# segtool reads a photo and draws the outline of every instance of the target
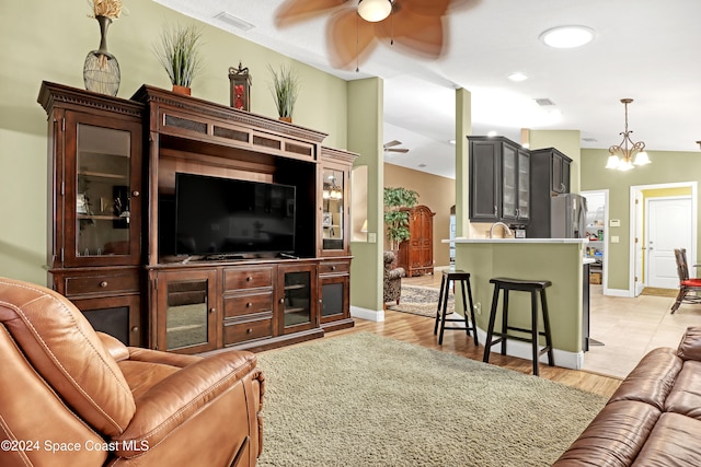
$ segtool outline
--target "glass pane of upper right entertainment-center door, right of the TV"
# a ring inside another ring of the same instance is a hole
[[[344,249],[345,218],[345,172],[333,168],[323,170],[322,191],[322,248]]]

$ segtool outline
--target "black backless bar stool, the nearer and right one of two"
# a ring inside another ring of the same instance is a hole
[[[492,346],[502,342],[502,355],[506,354],[506,339],[515,339],[525,342],[531,342],[532,345],[532,358],[533,358],[533,375],[538,376],[539,359],[543,353],[548,353],[548,364],[554,365],[554,359],[552,353],[552,339],[550,335],[550,320],[548,318],[548,301],[545,300],[545,288],[552,285],[550,281],[529,281],[520,279],[507,279],[507,278],[494,278],[490,280],[490,283],[494,284],[494,296],[492,297],[492,312],[490,313],[490,325],[486,331],[486,343],[484,346],[484,359],[485,363],[490,361],[490,351]],[[502,308],[502,331],[494,331],[494,322],[496,320],[496,310],[499,300],[499,291],[504,291],[504,301]],[[509,291],[530,292],[530,315],[531,315],[531,328],[524,329],[508,325],[508,293]],[[540,305],[543,315],[543,331],[538,330],[538,294],[540,294]],[[530,337],[515,336],[509,334],[509,330],[519,332],[530,332]],[[494,337],[497,337],[494,339]],[[544,336],[545,346],[539,350],[539,336]]]

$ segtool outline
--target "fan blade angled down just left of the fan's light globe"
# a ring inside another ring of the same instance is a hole
[[[333,13],[326,23],[329,58],[334,68],[357,68],[377,43],[375,23],[361,20],[355,8]]]

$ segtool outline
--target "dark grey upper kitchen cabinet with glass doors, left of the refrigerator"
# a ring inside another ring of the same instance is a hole
[[[526,224],[530,218],[530,154],[504,137],[470,141],[470,221]]]

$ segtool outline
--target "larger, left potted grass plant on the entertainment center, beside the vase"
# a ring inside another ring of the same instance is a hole
[[[161,32],[161,40],[153,47],[173,84],[173,92],[189,95],[193,79],[203,70],[202,32],[194,25],[166,25]]]

